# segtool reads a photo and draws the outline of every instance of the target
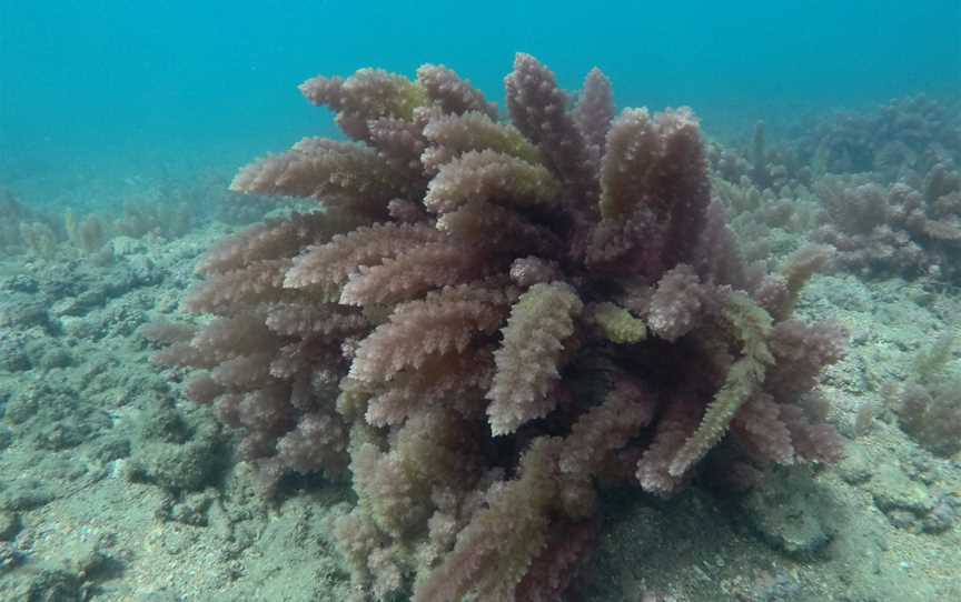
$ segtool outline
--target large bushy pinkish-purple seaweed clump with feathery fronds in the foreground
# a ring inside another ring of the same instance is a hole
[[[688,109],[615,112],[535,58],[509,120],[454,71],[300,90],[350,141],[304,139],[236,191],[318,210],[222,241],[160,360],[265,478],[353,482],[333,525],[358,598],[556,600],[597,488],[831,462],[814,389],[844,332],[791,317],[826,251],[745,265]]]

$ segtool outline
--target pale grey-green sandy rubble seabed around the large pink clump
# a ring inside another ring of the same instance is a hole
[[[230,433],[138,333],[177,318],[194,264],[227,231],[117,238],[101,267],[0,261],[0,600],[349,598],[326,529],[349,491],[304,480],[264,499]],[[888,399],[957,328],[961,294],[822,275],[799,312],[851,331],[823,381],[846,459],[744,495],[606,492],[571,601],[961,600],[961,461],[909,439]]]

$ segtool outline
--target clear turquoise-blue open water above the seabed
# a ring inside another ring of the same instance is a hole
[[[334,133],[296,84],[365,66],[445,63],[503,102],[515,51],[569,89],[600,66],[618,104],[687,104],[724,133],[957,94],[961,0],[0,0],[0,185],[42,202],[232,170]]]

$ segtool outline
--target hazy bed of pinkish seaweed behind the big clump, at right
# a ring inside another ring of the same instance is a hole
[[[747,140],[710,144],[709,158],[751,259],[796,245],[786,230],[834,245],[835,265],[861,274],[957,278],[961,120],[950,101],[919,94],[802,120],[773,146],[757,122]]]

